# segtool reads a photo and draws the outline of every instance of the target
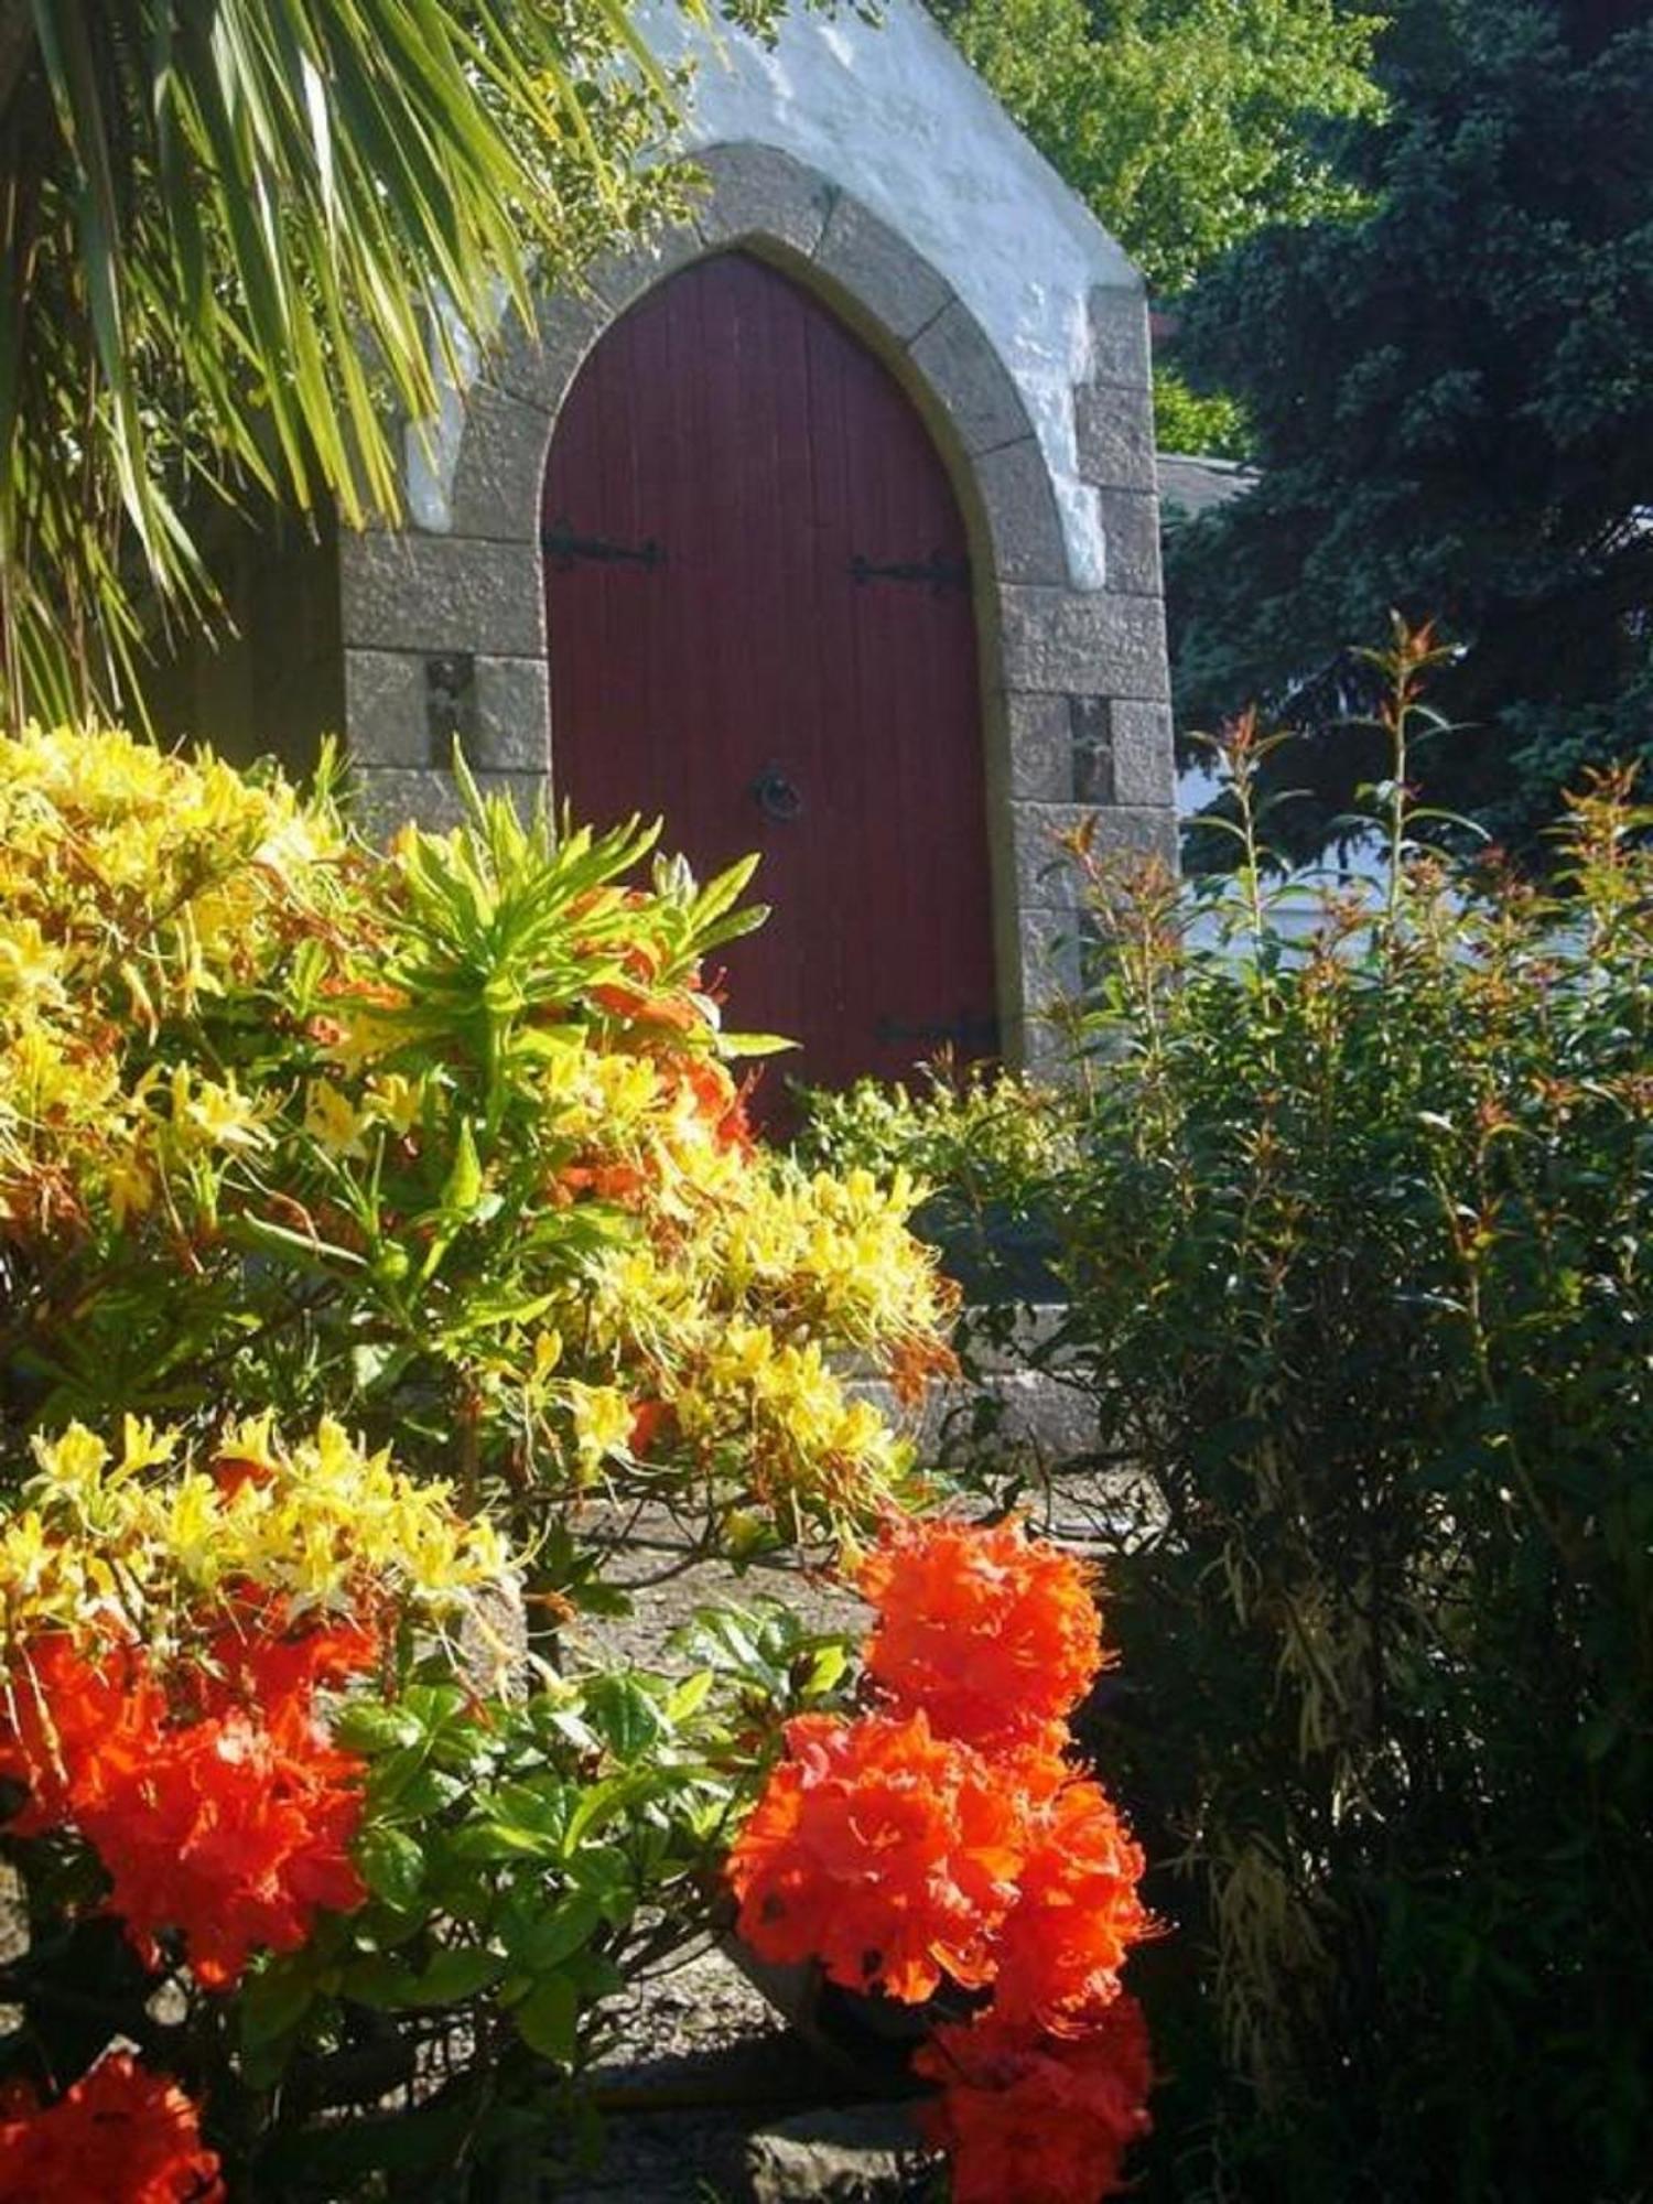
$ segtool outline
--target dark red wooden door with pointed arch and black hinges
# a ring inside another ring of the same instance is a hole
[[[558,798],[663,813],[701,877],[763,851],[730,1025],[815,1082],[992,1054],[965,531],[886,368],[763,262],[696,262],[569,392],[544,542]]]

